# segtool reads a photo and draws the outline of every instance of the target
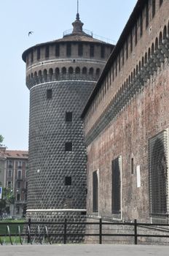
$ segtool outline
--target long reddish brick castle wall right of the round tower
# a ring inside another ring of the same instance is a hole
[[[149,139],[169,124],[169,2],[156,1],[155,13],[152,4],[153,1],[138,1],[82,113],[87,145],[88,214],[150,221]],[[112,186],[113,161],[117,158],[120,192]],[[93,211],[95,170],[98,211]],[[168,181],[168,174],[165,178]],[[116,196],[118,213],[112,209]]]

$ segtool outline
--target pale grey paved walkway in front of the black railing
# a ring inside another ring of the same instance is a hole
[[[169,246],[143,245],[4,245],[0,256],[168,256]]]

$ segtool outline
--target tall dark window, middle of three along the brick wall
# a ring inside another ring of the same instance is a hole
[[[112,170],[112,214],[119,214],[121,211],[121,157],[111,162]]]

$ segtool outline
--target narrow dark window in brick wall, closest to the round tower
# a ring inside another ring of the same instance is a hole
[[[98,173],[93,172],[93,212],[98,212]]]

